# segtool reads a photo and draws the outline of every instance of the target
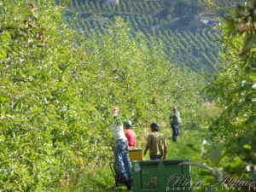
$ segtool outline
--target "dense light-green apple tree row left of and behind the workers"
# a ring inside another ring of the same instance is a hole
[[[137,131],[146,119],[165,123],[174,104],[196,118],[197,75],[119,18],[91,41],[63,10],[52,0],[0,3],[0,190],[49,191],[109,160],[113,105]]]

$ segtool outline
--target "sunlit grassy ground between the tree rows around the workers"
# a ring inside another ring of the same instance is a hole
[[[194,128],[189,127],[180,127],[180,135],[177,137],[177,143],[172,142],[172,130],[166,129],[163,131],[166,135],[167,141],[167,159],[181,159],[181,158],[190,158],[192,162],[201,162],[199,157],[199,152],[195,152],[188,145],[193,145],[195,148],[200,150],[202,139],[207,134],[207,127],[204,126],[195,126]],[[141,136],[140,139],[144,138],[146,141],[146,136]],[[139,146],[144,147],[146,142],[139,143]],[[149,152],[148,152],[149,154]],[[148,154],[144,157],[144,160],[149,160]],[[192,178],[194,181],[201,180],[199,174],[200,168],[192,166]],[[74,185],[73,182],[69,186],[61,187],[55,189],[55,191],[64,191],[64,192],[84,192],[84,191],[126,191],[125,187],[119,187],[116,189],[109,189],[114,185],[114,178],[109,166],[106,167],[95,167],[90,169],[88,172],[84,172],[79,177],[79,182]]]

